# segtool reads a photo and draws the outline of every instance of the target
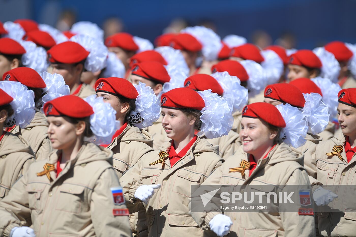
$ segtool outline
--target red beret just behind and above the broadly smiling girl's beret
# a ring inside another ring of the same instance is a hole
[[[305,104],[302,91],[296,86],[287,83],[268,85],[265,89],[265,98],[278,100],[300,108],[303,108]]]

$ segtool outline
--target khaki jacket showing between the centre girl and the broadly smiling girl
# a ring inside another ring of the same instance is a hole
[[[226,136],[209,139],[204,137],[210,144],[219,146],[219,155],[226,160],[240,147],[239,134],[230,130]]]

